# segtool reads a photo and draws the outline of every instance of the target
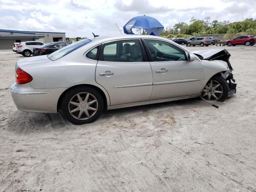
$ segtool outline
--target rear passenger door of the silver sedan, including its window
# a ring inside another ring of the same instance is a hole
[[[95,77],[111,105],[150,100],[152,70],[141,45],[138,39],[102,44]]]

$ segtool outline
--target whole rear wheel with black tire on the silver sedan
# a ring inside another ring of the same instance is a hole
[[[85,101],[86,99],[87,101]],[[89,104],[90,102],[92,103]],[[69,90],[61,101],[64,117],[76,125],[94,122],[102,114],[103,109],[102,95],[98,90],[88,86],[79,86]]]

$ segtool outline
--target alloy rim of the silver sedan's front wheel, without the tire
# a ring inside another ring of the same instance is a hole
[[[217,101],[218,99],[221,98],[222,94],[223,94],[223,88],[220,85],[220,83],[218,83],[215,80],[209,80],[205,85],[200,97],[203,100]]]

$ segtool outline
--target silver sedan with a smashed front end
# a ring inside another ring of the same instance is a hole
[[[85,124],[104,109],[236,92],[225,49],[190,52],[157,36],[95,37],[16,63],[11,94],[19,110],[57,113]]]

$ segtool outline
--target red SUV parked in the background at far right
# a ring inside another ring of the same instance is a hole
[[[239,36],[235,39],[230,39],[225,42],[227,46],[236,46],[236,45],[254,45],[256,43],[256,36],[254,35],[244,35]]]

